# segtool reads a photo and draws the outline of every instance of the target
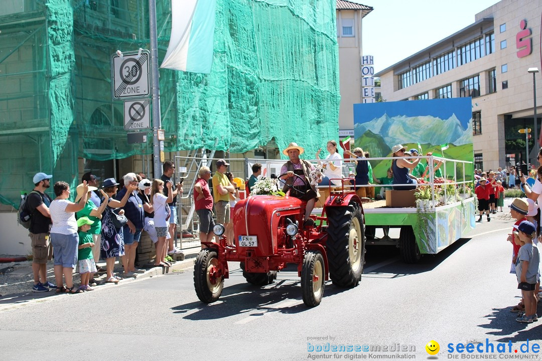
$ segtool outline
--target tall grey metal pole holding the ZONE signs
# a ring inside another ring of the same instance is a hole
[[[160,149],[164,142],[158,140],[158,129],[162,127],[160,119],[160,83],[158,78],[158,35],[156,30],[156,0],[149,0],[149,33],[151,40],[151,94],[152,94],[152,160],[154,179],[162,175]]]

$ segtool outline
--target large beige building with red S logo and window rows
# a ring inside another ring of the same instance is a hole
[[[474,23],[376,74],[386,101],[472,98],[475,167],[535,161],[533,73],[542,117],[542,2],[502,0]],[[531,128],[526,156],[525,134]],[[415,141],[415,140],[414,140]],[[536,163],[536,162],[534,162]]]

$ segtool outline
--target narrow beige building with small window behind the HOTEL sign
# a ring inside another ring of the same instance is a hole
[[[354,129],[354,104],[362,102],[362,24],[373,8],[337,0],[339,44],[339,130]]]

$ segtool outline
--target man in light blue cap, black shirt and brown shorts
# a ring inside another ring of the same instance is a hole
[[[30,214],[30,239],[32,241],[32,271],[34,272],[33,292],[47,292],[56,286],[47,280],[47,258],[49,256],[49,229],[51,228],[51,214],[49,205],[51,198],[46,189],[50,187],[52,175],[36,173],[34,175],[34,189],[27,196],[25,207]]]

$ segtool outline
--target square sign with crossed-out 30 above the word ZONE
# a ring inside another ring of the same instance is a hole
[[[149,50],[111,57],[113,99],[149,96]]]

